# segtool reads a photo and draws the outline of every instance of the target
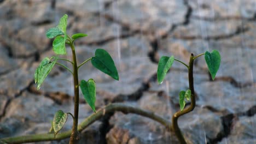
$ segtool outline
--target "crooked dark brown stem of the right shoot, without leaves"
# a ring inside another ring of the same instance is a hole
[[[187,143],[182,135],[181,129],[178,126],[178,118],[185,113],[189,113],[194,110],[195,108],[195,91],[194,91],[194,78],[193,78],[193,64],[194,64],[194,55],[191,53],[190,60],[189,60],[189,67],[188,67],[188,77],[189,77],[189,89],[191,90],[191,104],[189,107],[185,108],[183,111],[178,111],[174,113],[172,116],[172,129],[174,133],[178,137],[178,140],[181,144]]]

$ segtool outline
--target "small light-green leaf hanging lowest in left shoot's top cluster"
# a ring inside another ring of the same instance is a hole
[[[65,46],[65,38],[60,36],[57,36],[53,41],[53,51],[57,55],[66,55],[66,46]]]

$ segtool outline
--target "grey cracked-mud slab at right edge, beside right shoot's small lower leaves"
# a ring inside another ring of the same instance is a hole
[[[199,100],[198,105],[211,105],[217,110],[228,110],[230,113],[246,111],[255,105],[255,98],[251,97],[253,87],[238,89],[229,82],[202,82],[195,85]]]

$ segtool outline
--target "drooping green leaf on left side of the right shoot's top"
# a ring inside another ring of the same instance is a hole
[[[167,71],[172,67],[174,57],[162,56],[158,63],[158,83],[162,83],[165,79]]]

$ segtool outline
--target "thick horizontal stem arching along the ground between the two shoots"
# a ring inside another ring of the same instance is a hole
[[[134,113],[140,116],[148,117],[150,119],[153,119],[156,122],[159,122],[160,124],[164,125],[165,128],[172,131],[171,123],[167,119],[162,118],[153,112],[149,112],[146,110],[142,110],[138,107],[125,105],[121,103],[109,104],[103,109],[98,110],[96,113],[93,113],[78,125],[78,131],[82,131],[85,128],[89,127],[90,124],[94,123],[95,121],[98,121],[104,115],[108,113],[116,112],[116,111],[123,112],[124,114]],[[68,130],[68,131],[64,131],[63,133],[57,134],[56,137],[54,137],[54,134],[35,134],[35,135],[25,135],[25,136],[16,136],[16,137],[6,137],[3,139],[0,139],[0,141],[6,142],[6,143],[27,143],[27,142],[39,142],[39,141],[63,140],[68,138],[71,135],[71,133],[72,133],[72,130]]]

